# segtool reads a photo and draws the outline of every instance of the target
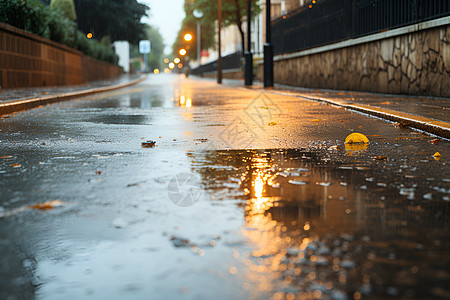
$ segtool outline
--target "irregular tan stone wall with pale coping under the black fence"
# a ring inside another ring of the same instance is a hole
[[[448,21],[430,24],[437,25],[412,25],[359,42],[277,56],[275,83],[450,97],[450,25]],[[262,80],[262,65],[258,76]]]

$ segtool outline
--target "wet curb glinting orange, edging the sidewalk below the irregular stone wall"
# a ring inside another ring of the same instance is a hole
[[[405,125],[416,128],[446,139],[450,139],[450,123],[444,121],[433,120],[426,117],[420,117],[409,113],[399,112],[395,110],[374,107],[363,104],[349,104],[340,101],[324,98],[324,97],[311,97],[301,93],[286,93],[281,91],[269,91],[270,93],[279,94],[283,96],[300,97],[306,100],[321,101],[332,105],[344,107],[349,110],[358,111],[364,114],[372,115],[382,119],[386,119],[394,122],[401,122]]]

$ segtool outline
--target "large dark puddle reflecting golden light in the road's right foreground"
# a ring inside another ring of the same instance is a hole
[[[251,298],[449,298],[445,178],[297,150],[190,156],[214,201],[242,201],[238,275]],[[408,199],[410,186],[433,197]]]

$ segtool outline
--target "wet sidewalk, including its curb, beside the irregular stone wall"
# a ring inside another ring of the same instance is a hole
[[[242,80],[225,79],[224,84],[242,86],[244,83]],[[450,139],[449,98],[307,89],[277,84],[264,89],[259,81],[247,88],[326,102]]]

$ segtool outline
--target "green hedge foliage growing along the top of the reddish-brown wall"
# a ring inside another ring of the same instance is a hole
[[[28,0],[27,4],[23,0],[0,0],[0,22],[73,47],[97,59],[111,63],[118,61],[109,43],[88,40],[61,10],[47,7],[38,0]]]

